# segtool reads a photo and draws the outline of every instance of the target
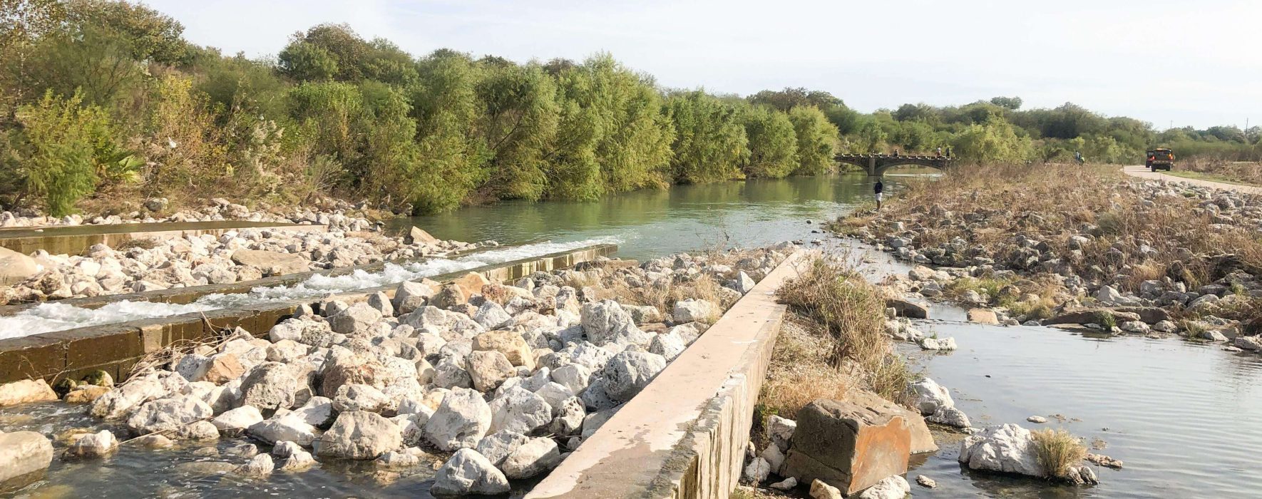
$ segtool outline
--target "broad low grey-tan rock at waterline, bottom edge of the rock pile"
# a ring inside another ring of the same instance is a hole
[[[403,446],[403,433],[390,419],[366,411],[343,412],[324,432],[317,456],[356,460],[377,459]]]

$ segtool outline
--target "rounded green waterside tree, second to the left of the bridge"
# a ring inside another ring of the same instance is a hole
[[[751,106],[742,114],[750,155],[747,177],[781,178],[798,168],[798,134],[784,111]]]

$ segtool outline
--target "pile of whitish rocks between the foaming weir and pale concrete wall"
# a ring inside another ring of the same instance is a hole
[[[203,491],[197,480],[213,475],[241,480],[239,490],[268,484],[294,495],[363,479],[410,484],[391,490],[422,496],[529,488],[782,258],[681,254],[534,273],[512,286],[477,274],[443,287],[405,283],[394,299],[323,302],[266,332],[162,351],[121,387],[96,376],[64,395],[87,407],[52,403],[100,419],[34,426],[59,435],[54,447],[67,454],[37,488],[90,486],[78,476],[96,474],[76,470],[111,467],[97,457],[116,452],[169,460],[146,446],[191,457],[174,465],[175,480]],[[143,471],[107,488],[151,495],[168,481]]]

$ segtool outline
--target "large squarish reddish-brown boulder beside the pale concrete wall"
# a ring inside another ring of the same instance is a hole
[[[892,402],[820,399],[798,411],[782,475],[823,480],[851,495],[906,472],[910,454],[907,421]]]

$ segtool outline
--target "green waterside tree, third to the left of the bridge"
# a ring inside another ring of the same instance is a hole
[[[675,129],[671,171],[675,182],[704,183],[741,177],[750,157],[736,109],[702,92],[674,95],[666,110]]]

